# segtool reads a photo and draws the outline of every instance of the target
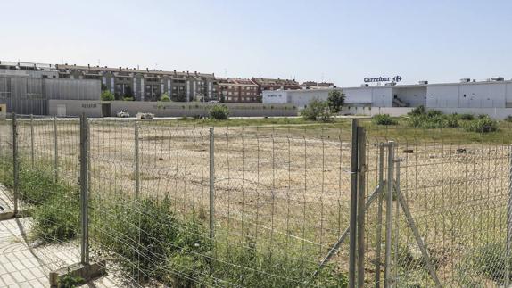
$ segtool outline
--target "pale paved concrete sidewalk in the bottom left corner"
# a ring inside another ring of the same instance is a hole
[[[0,188],[2,206],[10,206]],[[29,242],[31,218],[12,218],[0,221],[0,287],[49,287],[50,271],[79,262],[77,241],[32,248]],[[85,287],[122,287],[114,276],[83,285]]]

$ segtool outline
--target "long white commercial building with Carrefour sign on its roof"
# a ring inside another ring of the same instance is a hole
[[[334,88],[336,89],[336,88]],[[446,113],[489,114],[496,119],[512,115],[512,80],[503,78],[475,81],[461,79],[458,83],[417,85],[384,85],[338,88],[345,95],[343,112],[396,116],[424,105],[427,109]],[[318,90],[274,90],[263,92],[263,103],[291,103],[303,108],[312,99],[326,100],[333,88]]]

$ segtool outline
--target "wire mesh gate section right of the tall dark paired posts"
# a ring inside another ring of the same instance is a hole
[[[364,285],[508,287],[510,153],[508,145],[368,140]]]

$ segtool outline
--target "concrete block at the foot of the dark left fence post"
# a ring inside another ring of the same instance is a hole
[[[76,263],[69,267],[63,267],[50,272],[50,286],[59,287],[59,283],[65,276],[79,278],[80,281],[77,284],[85,284],[92,279],[104,276],[106,274],[105,265],[106,261],[101,260],[89,264]]]

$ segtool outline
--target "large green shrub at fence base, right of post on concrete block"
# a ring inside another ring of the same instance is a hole
[[[154,279],[178,287],[189,287],[189,279],[202,276],[212,249],[208,233],[175,218],[169,199],[96,201],[109,213],[93,217],[91,233],[126,274],[136,277],[140,269],[142,282]]]

